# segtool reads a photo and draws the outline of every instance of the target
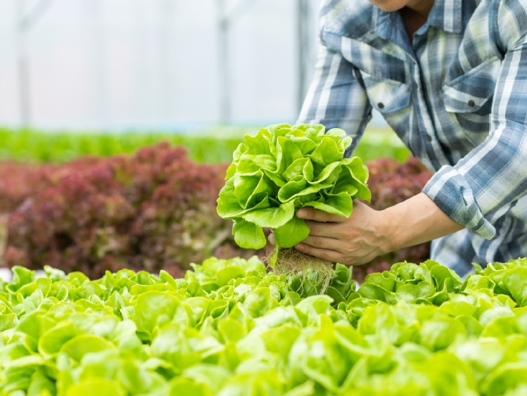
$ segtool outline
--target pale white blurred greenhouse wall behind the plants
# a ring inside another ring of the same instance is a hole
[[[318,8],[319,0],[1,0],[0,125],[293,122],[316,58]]]

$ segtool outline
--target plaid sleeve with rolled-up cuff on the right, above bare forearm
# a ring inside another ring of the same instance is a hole
[[[455,166],[441,167],[423,190],[451,219],[488,239],[527,193],[527,39],[516,32],[507,33],[489,136]]]

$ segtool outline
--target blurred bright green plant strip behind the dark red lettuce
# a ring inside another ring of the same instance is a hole
[[[39,132],[32,129],[0,128],[0,160],[30,162],[65,162],[83,155],[116,155],[134,153],[160,141],[184,146],[189,158],[215,164],[230,162],[232,152],[245,134],[256,134],[257,128],[211,127],[192,134],[128,132]],[[388,129],[369,129],[355,151],[368,161],[394,158],[404,161],[409,151],[395,133]]]

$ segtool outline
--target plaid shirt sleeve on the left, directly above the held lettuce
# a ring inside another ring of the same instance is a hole
[[[353,138],[349,156],[372,118],[366,92],[355,79],[354,66],[341,53],[321,44],[315,74],[297,123],[323,124],[326,129],[341,128]]]

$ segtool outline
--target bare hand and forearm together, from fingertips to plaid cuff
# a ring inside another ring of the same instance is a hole
[[[296,215],[310,227],[310,235],[295,246],[298,250],[347,265],[365,264],[384,253],[464,228],[424,193],[381,211],[356,200],[347,218],[313,207],[303,207]]]

